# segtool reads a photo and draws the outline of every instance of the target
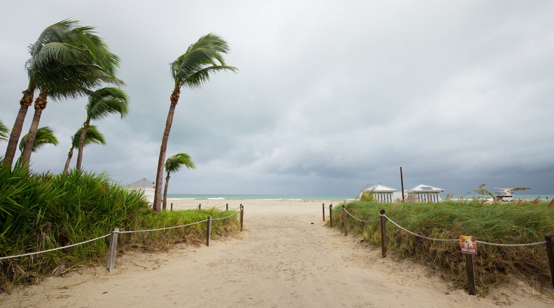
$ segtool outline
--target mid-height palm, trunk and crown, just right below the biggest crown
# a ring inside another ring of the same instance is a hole
[[[119,113],[124,118],[128,113],[128,96],[122,89],[105,87],[97,89],[89,96],[89,103],[86,104],[86,120],[83,123],[82,133],[79,141],[79,153],[77,155],[77,166],[81,168],[82,150],[86,131],[89,129],[91,120],[100,120],[106,118],[112,113]]]

